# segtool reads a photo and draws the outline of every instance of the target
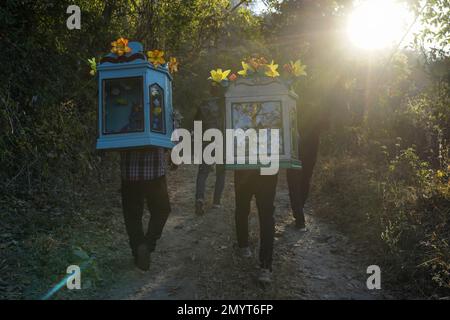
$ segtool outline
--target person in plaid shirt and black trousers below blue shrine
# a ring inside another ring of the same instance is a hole
[[[150,255],[170,213],[166,183],[166,152],[163,148],[147,148],[121,152],[122,207],[125,228],[135,265],[147,271]],[[150,212],[147,231],[142,218],[144,204]]]

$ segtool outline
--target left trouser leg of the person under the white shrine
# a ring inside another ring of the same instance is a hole
[[[235,222],[239,248],[248,247],[248,215],[253,196],[250,178],[245,171],[234,172]]]

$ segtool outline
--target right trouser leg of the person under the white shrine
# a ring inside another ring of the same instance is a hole
[[[256,205],[259,215],[261,268],[272,270],[273,241],[275,236],[274,200],[278,175],[259,176]]]

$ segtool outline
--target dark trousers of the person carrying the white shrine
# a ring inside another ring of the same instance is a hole
[[[236,233],[240,248],[248,246],[248,216],[253,196],[258,208],[261,267],[272,269],[273,241],[275,235],[275,193],[278,175],[262,176],[259,170],[236,170],[234,190],[236,201]]]

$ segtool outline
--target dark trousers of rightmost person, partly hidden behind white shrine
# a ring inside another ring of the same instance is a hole
[[[300,160],[303,168],[301,170],[286,170],[289,188],[289,199],[294,218],[305,223],[303,208],[308,199],[311,187],[311,178],[319,151],[319,134],[309,134],[299,144]]]

